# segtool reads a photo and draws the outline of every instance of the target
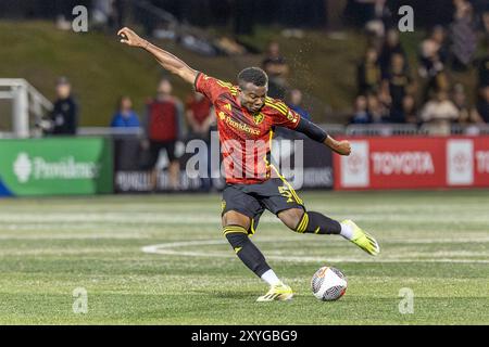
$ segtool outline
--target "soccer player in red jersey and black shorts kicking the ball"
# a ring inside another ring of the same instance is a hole
[[[379,253],[375,239],[353,221],[338,222],[306,210],[293,188],[268,164],[275,126],[300,131],[340,155],[350,155],[351,147],[348,141],[337,141],[301,118],[284,102],[268,98],[265,72],[258,67],[244,68],[238,75],[238,86],[233,86],[195,70],[129,28],[121,29],[118,35],[122,43],[151,53],[163,68],[193,85],[196,91],[213,103],[227,183],[222,203],[223,233],[239,259],[269,285],[269,291],[258,301],[288,300],[293,296],[290,286],[280,281],[249,237],[265,208],[298,233],[339,234],[371,255]]]

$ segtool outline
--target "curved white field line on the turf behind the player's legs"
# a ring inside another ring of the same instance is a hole
[[[297,239],[281,239],[277,241],[276,239],[261,239],[261,242],[285,242],[285,241],[297,241]],[[202,241],[188,241],[188,242],[170,242],[158,245],[145,246],[141,248],[143,253],[148,254],[160,254],[160,255],[175,255],[175,256],[189,256],[189,257],[205,257],[205,258],[233,258],[231,252],[229,253],[218,253],[218,252],[188,252],[177,248],[189,247],[189,246],[204,246],[204,245],[225,245],[225,241],[221,240],[202,240]],[[467,252],[467,255],[469,253]],[[421,254],[416,255],[432,255]],[[447,254],[449,255],[449,253]],[[294,261],[294,262],[317,262],[317,261],[333,261],[333,262],[476,262],[476,264],[489,264],[489,259],[460,259],[460,258],[410,258],[410,257],[397,257],[397,258],[372,258],[372,257],[311,257],[311,256],[279,256],[279,255],[268,255],[267,258],[284,260],[284,261]]]

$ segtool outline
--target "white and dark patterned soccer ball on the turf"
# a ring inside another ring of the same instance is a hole
[[[312,278],[311,288],[319,300],[337,300],[347,292],[347,278],[338,269],[322,267]]]

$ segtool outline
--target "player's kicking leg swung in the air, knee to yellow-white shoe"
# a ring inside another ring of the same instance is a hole
[[[289,208],[278,213],[278,218],[290,229],[299,233],[339,234],[356,246],[376,256],[380,253],[377,241],[353,221],[338,222],[323,214],[305,211],[302,208]]]

